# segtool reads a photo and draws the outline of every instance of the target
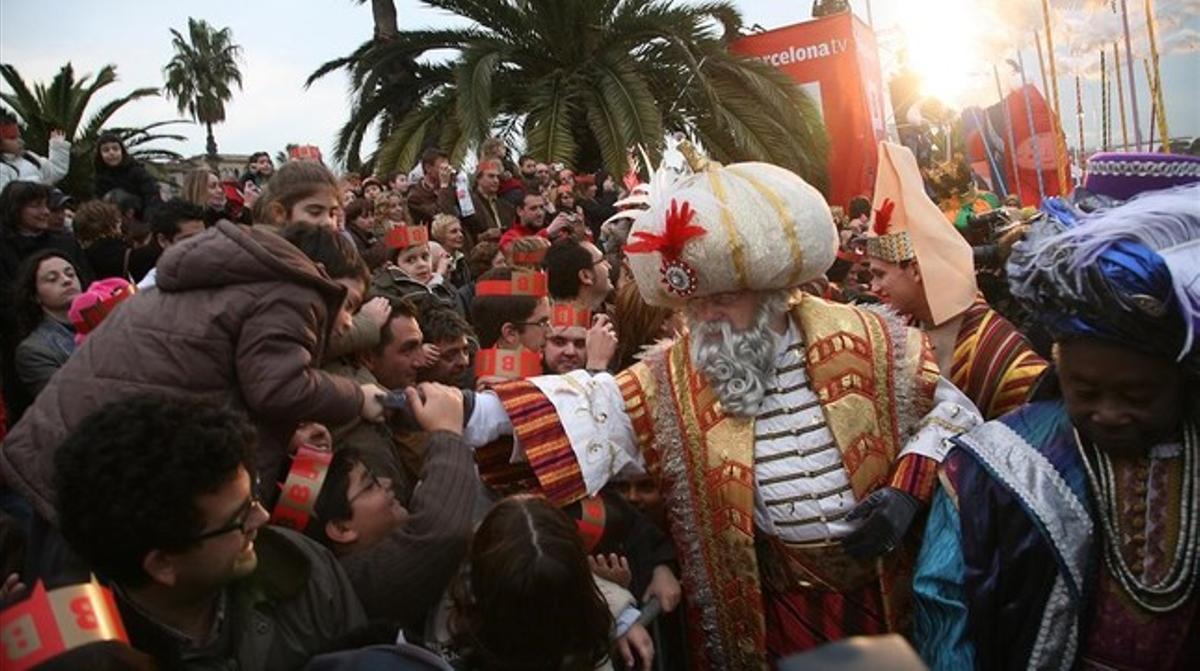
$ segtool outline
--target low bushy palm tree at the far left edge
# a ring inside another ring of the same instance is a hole
[[[143,86],[120,96],[102,106],[90,116],[86,115],[92,97],[106,86],[116,82],[116,66],[106,65],[92,78],[84,74],[76,78],[74,67],[64,65],[49,85],[28,84],[10,64],[0,65],[0,77],[12,92],[0,94],[0,101],[20,119],[24,131],[22,137],[26,146],[40,154],[46,154],[50,131],[62,130],[71,140],[71,170],[59,182],[59,188],[77,197],[89,196],[92,185],[92,155],[96,151],[96,139],[101,131],[118,110],[143,97],[158,95],[158,89]],[[85,120],[86,116],[86,120]],[[174,133],[161,133],[160,128],[175,121],[158,121],[148,126],[133,128],[108,128],[116,132],[137,158],[168,158],[178,156],[174,151],[155,149],[150,143],[158,140],[182,140]]]

